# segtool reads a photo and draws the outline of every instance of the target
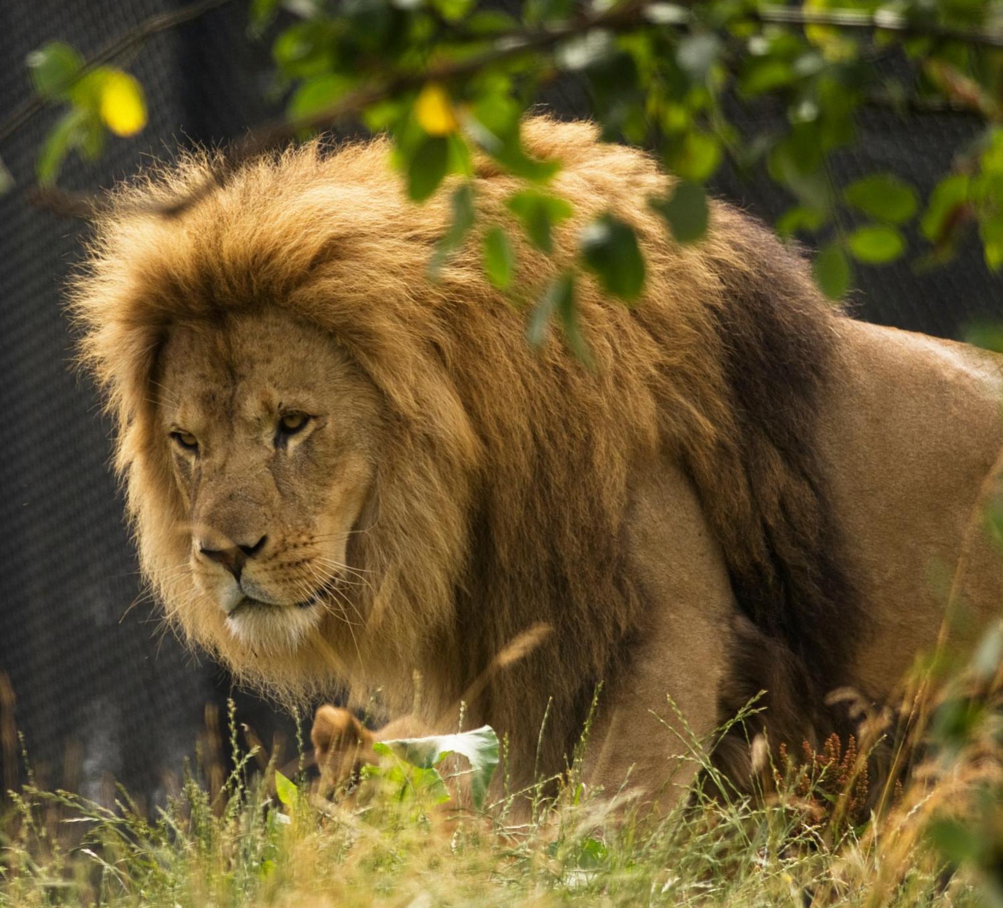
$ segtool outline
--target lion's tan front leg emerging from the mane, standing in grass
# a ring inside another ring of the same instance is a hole
[[[661,812],[685,797],[720,722],[730,675],[734,595],[692,485],[663,462],[638,477],[629,531],[646,601],[623,673],[609,678],[584,779]]]

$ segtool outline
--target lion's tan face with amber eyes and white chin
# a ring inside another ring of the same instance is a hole
[[[196,607],[255,649],[288,649],[364,582],[350,565],[380,401],[319,329],[278,313],[176,326],[154,388],[187,506]]]

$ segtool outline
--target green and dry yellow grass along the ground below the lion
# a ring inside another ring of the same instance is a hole
[[[661,818],[589,791],[578,762],[525,823],[437,803],[437,777],[392,756],[332,803],[255,769],[231,714],[229,778],[187,769],[153,816],[124,792],[9,793],[0,906],[1003,906],[1001,646],[995,627],[906,689],[923,757],[904,784],[866,775],[873,735],[773,759],[754,742],[755,797],[703,794],[728,791],[704,762],[710,784]]]

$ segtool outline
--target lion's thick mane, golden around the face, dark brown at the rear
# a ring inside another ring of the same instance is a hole
[[[262,157],[174,217],[139,208],[202,184],[212,155],[119,191],[97,220],[71,310],[117,426],[146,576],[169,618],[240,677],[316,693],[322,652],[295,664],[257,658],[210,636],[186,607],[177,568],[190,540],[154,419],[173,323],[281,307],[330,333],[380,390],[392,424],[374,491],[379,519],[352,551],[375,578],[367,607],[378,619],[364,645],[391,702],[406,709],[414,692],[409,671],[387,666],[420,668],[425,698],[444,701],[545,622],[546,642],[518,675],[495,672],[476,706],[532,755],[553,698],[543,759],[555,765],[596,683],[643,632],[643,591],[623,545],[632,474],[668,454],[697,489],[746,616],[722,708],[760,685],[781,712],[784,697],[819,703],[845,683],[861,626],[814,453],[832,320],[843,316],[797,255],[725,204],[713,203],[703,242],[673,242],[647,207],[671,178],[646,154],[600,142],[587,123],[537,118],[524,132],[532,153],[561,159],[553,191],[575,207],[557,231],[556,262],[510,230],[524,302],[572,264],[578,232],[604,210],[632,223],[643,245],[639,305],[577,282],[591,369],[557,337],[530,348],[525,314],[483,278],[475,240],[427,280],[448,193],[409,203],[384,139]],[[518,187],[480,161],[479,222],[510,223],[504,200]]]

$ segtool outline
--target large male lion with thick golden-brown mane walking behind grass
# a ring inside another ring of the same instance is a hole
[[[517,302],[603,211],[644,248],[633,308],[578,280],[589,368],[558,337],[531,349],[475,240],[428,279],[447,193],[409,203],[383,139],[263,157],[175,217],[134,202],[208,158],[123,189],[73,287],[82,356],[143,571],[238,677],[378,688],[408,718],[377,737],[451,730],[463,701],[509,736],[514,786],[564,767],[603,682],[589,778],[634,765],[666,805],[692,773],[664,787],[686,750],[667,695],[706,739],[765,689],[771,739],[799,743],[839,726],[828,692],[881,701],[935,642],[938,569],[970,628],[998,607],[978,513],[1001,361],[853,321],[726,204],[676,244],[647,205],[671,177],[593,125],[525,141],[563,162],[575,216],[553,260],[519,247]],[[478,223],[518,187],[480,160]],[[330,708],[315,735],[373,738]]]

